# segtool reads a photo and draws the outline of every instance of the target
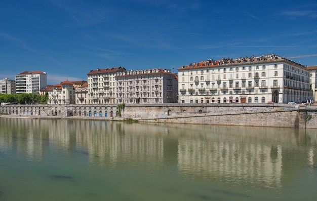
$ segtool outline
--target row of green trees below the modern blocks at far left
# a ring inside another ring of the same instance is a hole
[[[45,95],[39,94],[0,94],[1,103],[20,103],[20,104],[29,104],[29,103],[43,103],[47,104],[49,98],[48,93]]]

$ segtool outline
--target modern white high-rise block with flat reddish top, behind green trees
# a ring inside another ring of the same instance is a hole
[[[16,93],[38,94],[47,86],[46,72],[25,71],[15,75]]]

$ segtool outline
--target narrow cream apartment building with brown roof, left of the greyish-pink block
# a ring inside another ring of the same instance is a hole
[[[115,75],[124,67],[91,70],[88,75],[88,104],[115,103]]]

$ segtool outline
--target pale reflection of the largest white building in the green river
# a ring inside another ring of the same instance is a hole
[[[230,183],[257,183],[279,188],[282,179],[282,147],[244,143],[240,140],[179,141],[179,171]]]

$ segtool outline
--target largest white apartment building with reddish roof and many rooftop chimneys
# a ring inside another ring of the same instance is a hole
[[[287,103],[311,99],[305,66],[275,54],[222,58],[178,69],[181,103]]]

